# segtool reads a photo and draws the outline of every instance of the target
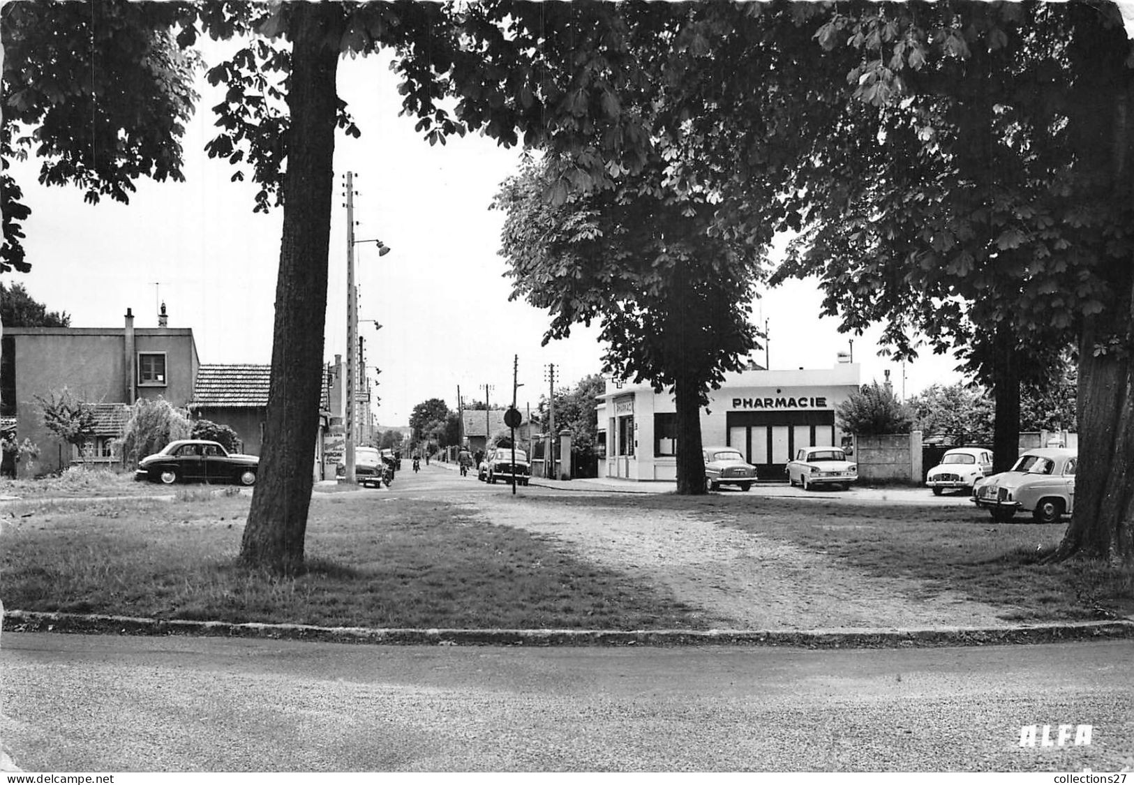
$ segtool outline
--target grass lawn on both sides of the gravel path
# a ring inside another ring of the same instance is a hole
[[[133,481],[130,481],[133,482]],[[159,499],[34,498],[0,512],[9,609],[369,627],[703,628],[701,609],[596,567],[555,540],[422,503],[320,487],[307,571],[236,565],[249,497],[180,487]],[[74,487],[82,487],[75,482]],[[104,493],[120,496],[118,493]],[[74,492],[71,497],[96,493]],[[532,504],[680,509],[826,554],[870,575],[920,581],[1021,622],[1134,615],[1129,568],[1042,564],[1066,524],[997,524],[967,506],[835,504],[742,493],[544,497]]]

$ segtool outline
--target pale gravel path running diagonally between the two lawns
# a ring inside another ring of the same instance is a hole
[[[1005,609],[913,579],[877,577],[727,518],[477,498],[480,515],[562,541],[582,557],[668,590],[710,624],[746,630],[1002,626]]]

